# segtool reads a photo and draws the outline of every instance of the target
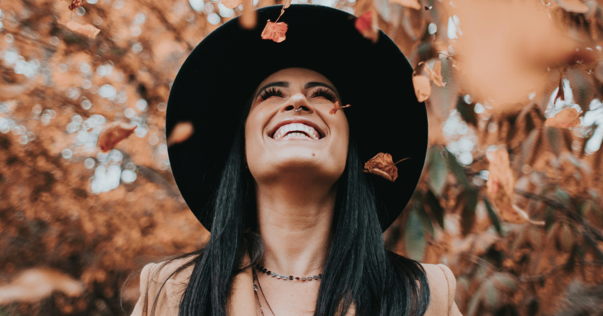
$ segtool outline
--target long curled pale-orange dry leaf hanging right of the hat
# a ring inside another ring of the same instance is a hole
[[[491,202],[498,209],[500,218],[504,221],[522,224],[531,222],[536,225],[544,225],[545,222],[532,221],[528,214],[513,204],[515,179],[511,173],[509,164],[509,153],[506,149],[488,150],[486,153],[490,167],[488,168],[488,181],[486,192]]]

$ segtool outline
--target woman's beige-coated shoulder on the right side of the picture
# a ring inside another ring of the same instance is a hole
[[[446,265],[421,263],[429,284],[429,307],[425,316],[457,316],[461,315],[454,301],[456,279]]]

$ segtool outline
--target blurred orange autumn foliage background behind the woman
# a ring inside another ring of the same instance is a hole
[[[602,3],[292,3],[373,11],[428,97],[428,160],[387,246],[448,265],[464,315],[601,315]],[[171,176],[166,101],[243,6],[81,4],[0,0],[0,315],[129,314],[145,263],[208,236]],[[133,134],[102,152],[116,122]]]

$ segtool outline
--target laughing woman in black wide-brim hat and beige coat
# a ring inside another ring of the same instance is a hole
[[[277,43],[233,19],[180,69],[166,130],[195,133],[169,158],[211,237],[145,266],[132,315],[460,315],[450,269],[384,248],[425,161],[408,61],[344,11],[292,5],[280,21]]]

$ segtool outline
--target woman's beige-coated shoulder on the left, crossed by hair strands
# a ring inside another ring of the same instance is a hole
[[[148,263],[140,272],[140,298],[132,316],[178,315],[180,298],[191,278],[194,257]]]

